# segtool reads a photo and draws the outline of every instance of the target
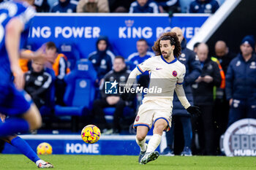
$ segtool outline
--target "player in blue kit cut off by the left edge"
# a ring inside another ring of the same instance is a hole
[[[23,72],[18,64],[20,47],[26,42],[35,15],[28,3],[34,4],[34,0],[0,4],[0,112],[9,116],[5,121],[0,121],[0,138],[17,147],[39,168],[50,168],[53,167],[50,163],[40,160],[29,144],[15,136],[19,132],[37,129],[42,124],[39,110],[21,90]],[[14,83],[12,74],[15,76]],[[1,120],[4,120],[2,115]]]

